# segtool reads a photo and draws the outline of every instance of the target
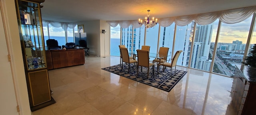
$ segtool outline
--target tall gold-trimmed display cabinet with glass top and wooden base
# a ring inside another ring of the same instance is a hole
[[[44,0],[16,0],[24,68],[31,111],[55,103],[46,65],[40,4]]]

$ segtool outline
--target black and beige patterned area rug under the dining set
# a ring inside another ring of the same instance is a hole
[[[149,69],[149,75],[147,78],[147,72],[148,68],[143,67],[142,72],[140,71],[141,68],[139,67],[139,73],[137,76],[137,69],[136,65],[133,66],[133,64],[130,64],[130,71],[128,71],[128,65],[123,66],[122,65],[114,65],[110,67],[102,68],[103,70],[109,71],[111,73],[115,73],[117,75],[121,75],[123,77],[127,77],[129,79],[133,79],[135,81],[150,85],[152,87],[156,87],[158,89],[162,89],[164,91],[170,92],[172,88],[182,79],[182,77],[187,73],[187,71],[177,70],[174,71],[174,69],[171,69],[169,67],[166,67],[164,72],[162,72],[162,66],[160,68],[160,72],[157,74],[156,71],[156,65],[154,67],[154,74],[152,71],[152,67]]]

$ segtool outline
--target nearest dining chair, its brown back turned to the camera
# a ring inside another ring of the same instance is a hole
[[[149,67],[153,68],[153,74],[154,74],[154,63],[149,63],[149,55],[147,50],[136,50],[137,51],[137,57],[138,57],[138,63],[137,63],[137,76],[139,73],[139,66],[141,66],[141,72],[142,67],[148,67],[148,74],[149,74]],[[148,75],[147,75],[148,78]]]

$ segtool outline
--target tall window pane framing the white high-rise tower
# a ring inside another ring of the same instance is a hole
[[[208,25],[196,24],[193,49],[190,53],[192,55],[191,68],[210,71],[214,50],[214,45],[211,42],[216,40],[218,22],[219,20]]]

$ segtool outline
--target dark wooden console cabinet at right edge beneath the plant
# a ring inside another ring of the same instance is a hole
[[[230,103],[237,115],[255,115],[256,104],[256,69],[245,67],[241,71],[235,69],[231,89],[232,102]]]

